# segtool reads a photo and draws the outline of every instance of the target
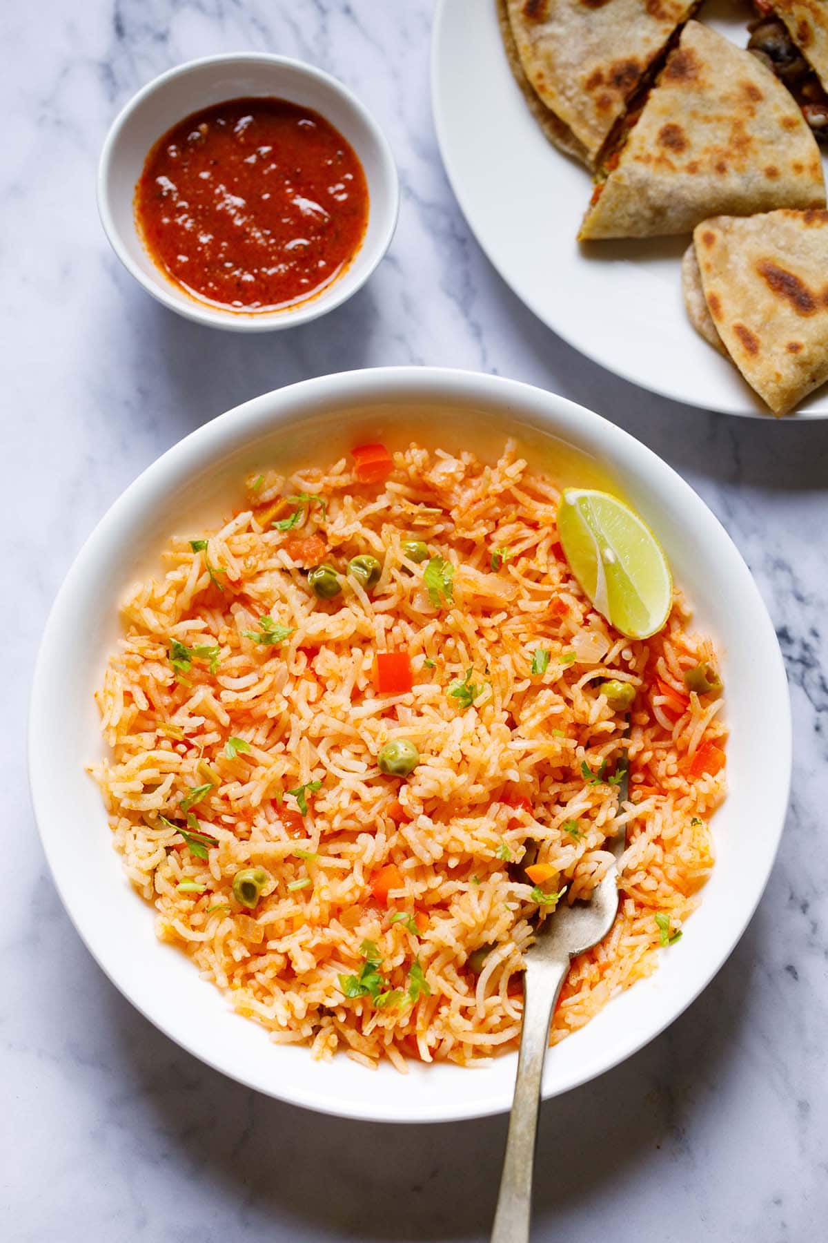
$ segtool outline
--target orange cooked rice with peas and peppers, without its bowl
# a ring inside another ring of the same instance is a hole
[[[679,593],[657,636],[616,633],[564,559],[557,501],[511,441],[494,466],[412,445],[369,485],[350,457],[266,471],[130,589],[97,696],[112,753],[92,768],[114,844],[158,936],[274,1042],[400,1070],[514,1049],[533,922],[588,897],[619,824],[618,917],[574,961],[552,1040],[652,972],[696,905],[725,728],[720,695],[688,695],[683,674],[715,666],[713,646]],[[382,566],[369,590],[346,573],[364,553]],[[308,582],[322,559],[329,600]],[[411,690],[376,689],[384,653],[410,656]],[[621,810],[606,679],[637,692]],[[420,763],[385,776],[400,738]],[[247,868],[267,873],[251,909],[232,891]]]

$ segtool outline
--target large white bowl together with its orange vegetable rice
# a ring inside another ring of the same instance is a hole
[[[659,635],[580,592],[565,486],[657,534]],[[684,692],[699,663],[724,691]],[[608,679],[636,690],[619,917],[544,1096],[662,1032],[758,902],[791,777],[773,626],[695,492],[571,401],[431,368],[268,393],[144,471],[61,588],[30,717],[55,883],[123,994],[241,1083],[377,1121],[505,1110],[534,915],[606,868]]]

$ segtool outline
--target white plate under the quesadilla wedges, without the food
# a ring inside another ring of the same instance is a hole
[[[732,0],[700,16],[745,46]],[[727,414],[772,418],[690,326],[680,259],[689,237],[575,240],[590,174],[550,145],[506,63],[494,0],[439,0],[432,102],[449,181],[480,246],[528,307],[581,353],[642,388]],[[828,418],[828,389],[793,419]]]

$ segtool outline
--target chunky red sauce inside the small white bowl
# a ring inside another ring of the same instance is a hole
[[[185,117],[135,186],[153,260],[191,297],[232,311],[319,293],[359,250],[367,213],[353,147],[287,99],[228,99]]]

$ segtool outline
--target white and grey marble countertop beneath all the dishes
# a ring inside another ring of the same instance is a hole
[[[529,380],[650,445],[739,544],[791,679],[793,799],[762,904],[729,963],[664,1035],[544,1108],[534,1237],[824,1237],[828,421],[672,405],[544,328],[489,266],[446,181],[430,109],[430,26],[428,0],[45,0],[0,15],[0,528],[12,617],[0,1237],[9,1243],[488,1238],[503,1117],[350,1124],[257,1096],[182,1053],[123,1001],[72,930],[25,778],[29,684],[48,607],[123,487],[247,398],[391,363]],[[110,252],[94,204],[98,150],[125,99],[176,62],[240,48],[303,57],[343,78],[386,128],[402,181],[398,230],[370,283],[317,323],[253,338],[197,327],[150,300]]]

